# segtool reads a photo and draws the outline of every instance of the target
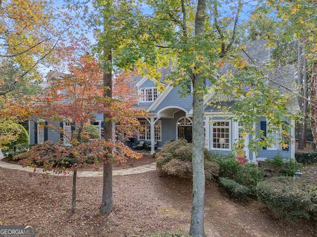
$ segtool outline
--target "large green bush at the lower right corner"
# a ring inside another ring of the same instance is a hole
[[[273,177],[258,183],[256,192],[280,224],[295,224],[300,217],[316,217],[317,186],[314,181]]]

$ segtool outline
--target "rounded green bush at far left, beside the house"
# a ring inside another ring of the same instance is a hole
[[[7,144],[6,149],[2,149],[3,155],[10,159],[17,154],[28,150],[29,134],[21,124],[17,123],[13,124],[13,126],[8,129],[14,129],[14,132],[18,133],[17,139]]]

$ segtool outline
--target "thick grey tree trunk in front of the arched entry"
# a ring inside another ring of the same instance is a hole
[[[198,0],[195,19],[195,34],[205,32],[206,0]],[[193,75],[193,199],[190,223],[190,235],[204,237],[204,198],[205,198],[205,170],[204,170],[204,93],[200,90],[203,81],[200,74]]]

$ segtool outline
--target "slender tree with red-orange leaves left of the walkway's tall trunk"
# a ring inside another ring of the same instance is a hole
[[[128,84],[122,83],[129,80],[129,75],[122,74],[114,77],[114,95],[117,95],[117,98],[104,97],[103,91],[106,88],[101,84],[103,71],[97,59],[87,53],[88,47],[87,40],[73,42],[71,46],[65,47],[61,56],[68,62],[69,73],[64,78],[57,79],[41,96],[36,98],[33,107],[29,108],[38,121],[71,122],[76,132],[69,133],[59,126],[52,125],[53,123],[42,122],[42,126],[63,134],[71,145],[67,147],[62,143],[46,142],[38,144],[28,153],[19,156],[19,158],[24,157],[21,161],[24,165],[35,166],[36,160],[44,163],[48,170],[55,172],[65,170],[57,165],[65,163],[65,158],[73,160],[70,166],[73,170],[72,212],[76,209],[76,175],[79,167],[99,160],[110,162],[111,160],[104,160],[107,154],[112,154],[112,160],[122,161],[126,157],[140,158],[140,155],[132,152],[123,144],[123,141],[114,143],[113,139],[89,139],[89,142],[83,142],[85,140],[83,137],[86,141],[89,138],[84,133],[84,126],[87,122],[94,120],[96,114],[107,114],[108,117],[105,120],[116,122],[117,134],[124,132],[127,137],[136,132],[139,126],[135,118],[138,112],[132,110],[130,102],[121,100],[130,98],[131,95],[128,93],[133,91],[131,88],[126,88]],[[77,56],[78,54],[80,56]],[[57,93],[58,91],[61,93]],[[112,152],[114,147],[115,152]]]

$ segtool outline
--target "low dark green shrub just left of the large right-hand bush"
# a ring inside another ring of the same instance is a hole
[[[232,197],[241,198],[244,202],[246,200],[247,195],[250,194],[250,189],[244,185],[241,185],[235,182],[232,179],[220,177],[219,184],[226,189],[226,191]]]

